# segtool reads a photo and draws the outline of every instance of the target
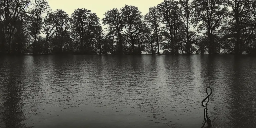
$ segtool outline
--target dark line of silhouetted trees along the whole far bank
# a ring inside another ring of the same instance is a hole
[[[2,54],[256,54],[255,0],[165,0],[145,16],[125,5],[102,20],[47,0],[0,0],[0,14]]]

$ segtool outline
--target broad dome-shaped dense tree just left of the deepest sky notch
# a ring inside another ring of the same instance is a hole
[[[102,27],[99,21],[99,17],[87,9],[77,9],[71,15],[71,28],[73,35],[79,37],[80,53],[97,52],[95,47],[101,52]]]

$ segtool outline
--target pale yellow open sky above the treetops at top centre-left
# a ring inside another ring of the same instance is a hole
[[[85,8],[96,13],[100,20],[104,18],[107,10],[118,8],[121,9],[125,5],[132,5],[138,7],[142,15],[148,13],[148,8],[157,6],[164,0],[48,0],[52,10],[65,10],[69,16],[77,8]]]

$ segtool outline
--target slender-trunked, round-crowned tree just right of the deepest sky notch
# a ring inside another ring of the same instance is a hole
[[[109,29],[116,30],[116,33],[118,33],[119,37],[119,48],[118,52],[119,54],[122,54],[123,51],[123,45],[122,45],[122,29],[124,27],[124,19],[121,15],[121,11],[117,8],[108,10],[105,13],[105,17],[102,19],[103,25],[109,25]]]

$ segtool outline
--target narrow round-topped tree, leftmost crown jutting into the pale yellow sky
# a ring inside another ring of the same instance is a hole
[[[61,9],[57,9],[54,13],[52,13],[50,18],[56,24],[56,37],[58,38],[57,32],[60,34],[59,52],[61,53],[63,50],[63,38],[70,27],[70,18],[68,14]]]

